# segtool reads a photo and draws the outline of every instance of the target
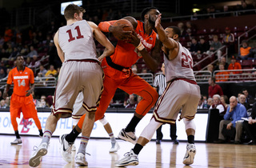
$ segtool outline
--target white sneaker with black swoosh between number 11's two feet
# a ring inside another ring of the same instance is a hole
[[[62,134],[59,137],[59,151],[62,154],[62,158],[66,161],[66,162],[71,162],[71,152],[72,152],[72,145],[73,143],[67,142],[65,137],[67,134]]]

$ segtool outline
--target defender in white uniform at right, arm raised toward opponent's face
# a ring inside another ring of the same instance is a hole
[[[164,52],[165,74],[168,85],[159,98],[150,123],[142,131],[138,142],[130,152],[125,154],[125,158],[116,162],[115,166],[138,165],[138,154],[143,146],[150,142],[154,131],[163,123],[175,124],[180,110],[179,121],[183,119],[188,139],[183,163],[190,165],[194,162],[196,126],[193,119],[200,99],[200,87],[194,78],[193,59],[190,51],[178,42],[178,37],[181,34],[178,27],[170,26],[164,30],[161,26],[161,14],[155,22],[155,27],[163,44],[162,50]]]

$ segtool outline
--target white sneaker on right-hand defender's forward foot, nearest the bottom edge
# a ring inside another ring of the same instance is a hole
[[[136,166],[138,165],[138,155],[134,154],[134,150],[130,150],[124,154],[125,158],[122,158],[115,163],[115,166],[124,167],[124,166]]]

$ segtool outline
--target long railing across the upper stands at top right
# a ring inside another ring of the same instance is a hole
[[[198,14],[196,17],[200,18],[203,16],[213,16],[213,18],[215,18],[215,16],[219,15],[219,14],[234,14],[234,16],[238,16],[238,12],[251,12],[254,11],[256,13],[256,10],[252,9],[252,10],[236,10],[236,11],[230,11],[230,12],[218,12],[218,13],[213,13],[213,14]],[[170,17],[170,18],[162,18],[162,20],[170,20],[170,22],[173,22],[173,20],[175,18],[190,18],[190,20],[193,20],[194,15],[185,15],[185,16],[175,16],[175,17]]]

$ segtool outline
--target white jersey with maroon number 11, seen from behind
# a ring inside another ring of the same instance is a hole
[[[58,30],[58,44],[65,55],[65,61],[70,59],[97,59],[94,34],[86,20],[62,26]]]

